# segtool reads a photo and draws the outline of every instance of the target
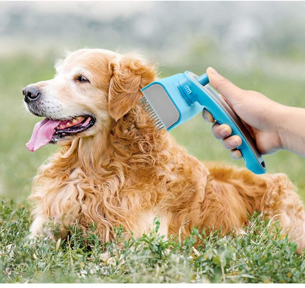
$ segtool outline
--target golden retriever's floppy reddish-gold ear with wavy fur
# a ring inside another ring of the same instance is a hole
[[[156,79],[156,67],[138,55],[125,55],[111,62],[110,69],[108,109],[117,121],[143,97],[141,89]]]

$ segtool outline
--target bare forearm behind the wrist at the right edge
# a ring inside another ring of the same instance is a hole
[[[278,115],[282,148],[305,157],[305,109],[283,106]]]

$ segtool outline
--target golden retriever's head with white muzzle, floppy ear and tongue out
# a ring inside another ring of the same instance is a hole
[[[156,69],[138,55],[82,49],[55,64],[51,80],[23,89],[24,102],[36,123],[27,148],[88,137],[109,129],[143,96],[141,88],[155,80]]]

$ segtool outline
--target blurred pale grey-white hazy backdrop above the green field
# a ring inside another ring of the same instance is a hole
[[[163,65],[305,78],[304,15],[305,2],[292,1],[1,2],[0,57],[140,49]]]

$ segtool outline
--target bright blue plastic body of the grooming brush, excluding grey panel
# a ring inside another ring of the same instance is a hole
[[[204,87],[209,83],[207,75],[203,74],[195,79],[190,76],[191,74],[192,73],[189,71],[175,74],[173,76],[152,82],[142,89],[142,91],[144,91],[153,84],[160,84],[177,108],[180,117],[177,122],[173,123],[173,125],[167,128],[167,131],[188,121],[201,112],[203,108],[206,108],[208,111],[210,111],[218,123],[228,124],[231,127],[232,135],[238,135],[241,137],[242,144],[237,149],[241,151],[246,167],[256,174],[265,173],[266,167],[263,157],[257,152],[256,149],[253,148],[253,143],[252,148],[249,144],[249,140],[252,141],[253,139],[246,139],[242,129],[236,125],[232,117],[228,115],[220,103],[211,97],[209,90]],[[208,88],[211,89],[210,87]],[[158,115],[158,111],[155,112]]]

